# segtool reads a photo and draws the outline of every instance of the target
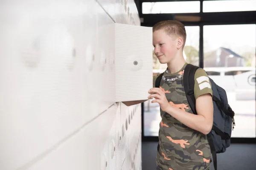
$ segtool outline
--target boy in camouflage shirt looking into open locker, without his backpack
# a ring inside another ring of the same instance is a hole
[[[186,30],[175,20],[162,21],[153,27],[154,53],[160,63],[168,68],[163,74],[160,88],[148,93],[152,103],[160,105],[159,143],[157,170],[209,170],[211,151],[206,134],[213,124],[212,89],[206,72],[199,68],[195,73],[195,99],[197,115],[186,99],[183,72],[187,63],[183,58]],[[135,105],[145,101],[123,102]]]

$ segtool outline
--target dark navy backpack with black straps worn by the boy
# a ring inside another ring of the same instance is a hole
[[[194,77],[195,71],[198,68],[198,66],[187,64],[183,74],[183,85],[186,98],[194,114],[197,114],[195,109]],[[157,77],[155,82],[156,88],[160,87],[162,77],[163,73]],[[216,153],[224,153],[227,147],[230,146],[231,132],[235,125],[235,113],[228,104],[226,91],[216,85],[211,78],[209,78],[209,80],[212,84],[213,125],[212,130],[207,134],[207,139],[212,153],[214,169],[217,170]]]

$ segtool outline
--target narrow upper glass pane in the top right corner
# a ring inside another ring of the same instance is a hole
[[[207,0],[203,12],[256,11],[256,0]]]

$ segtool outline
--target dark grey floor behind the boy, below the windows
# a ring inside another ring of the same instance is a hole
[[[142,170],[156,169],[157,142],[142,143]],[[231,144],[217,154],[218,170],[256,170],[256,144]]]

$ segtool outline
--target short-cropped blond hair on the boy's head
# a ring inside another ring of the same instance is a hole
[[[163,29],[166,34],[172,35],[175,38],[181,37],[183,39],[183,47],[186,42],[186,29],[183,23],[180,23],[180,21],[177,20],[167,20],[167,21],[161,21],[159,23],[156,23],[153,26],[153,32]]]

